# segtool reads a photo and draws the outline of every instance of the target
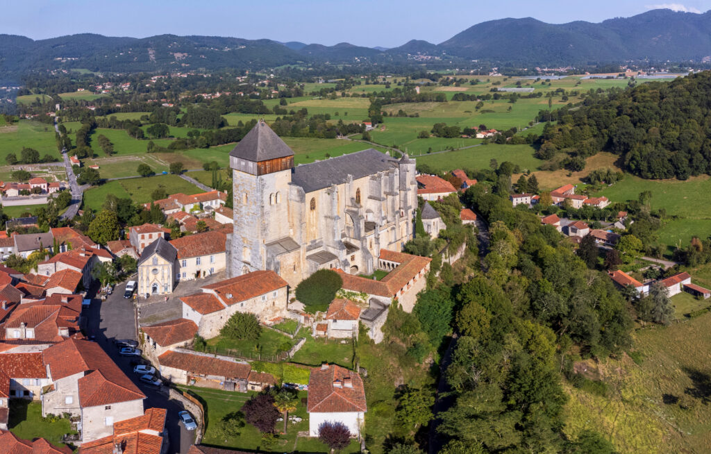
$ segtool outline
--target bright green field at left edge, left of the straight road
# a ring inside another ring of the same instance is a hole
[[[51,124],[28,120],[0,129],[0,163],[4,165],[9,153],[15,153],[19,158],[23,146],[36,149],[40,156],[49,154],[60,158],[54,134]]]

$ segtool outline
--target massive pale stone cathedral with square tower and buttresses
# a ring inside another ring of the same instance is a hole
[[[272,270],[294,287],[318,269],[372,274],[381,249],[412,239],[415,161],[373,148],[294,166],[260,121],[230,152],[232,276]]]

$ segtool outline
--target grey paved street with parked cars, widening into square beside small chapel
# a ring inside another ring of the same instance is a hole
[[[178,401],[169,400],[155,388],[139,382],[138,376],[133,373],[134,364],[132,362],[136,360],[119,356],[117,347],[114,345],[114,339],[137,339],[134,307],[131,300],[123,298],[124,287],[125,283],[117,285],[114,288],[114,293],[106,301],[98,299],[92,301],[87,310],[87,334],[96,336],[96,340],[105,352],[146,394],[145,409],[156,407],[168,410],[166,420],[170,442],[168,453],[186,454],[193,443],[195,432],[186,431],[183,425],[178,423],[178,411],[183,410],[183,406]]]

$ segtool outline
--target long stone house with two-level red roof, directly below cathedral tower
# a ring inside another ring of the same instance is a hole
[[[198,325],[205,338],[220,333],[227,320],[237,312],[257,315],[265,323],[285,315],[288,286],[274,271],[252,271],[201,288],[202,293],[183,296],[183,318]]]

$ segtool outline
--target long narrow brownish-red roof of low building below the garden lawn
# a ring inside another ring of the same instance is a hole
[[[187,353],[169,350],[158,357],[161,366],[181,369],[191,374],[214,375],[228,379],[247,379],[252,366],[235,360],[222,360],[198,352]]]

